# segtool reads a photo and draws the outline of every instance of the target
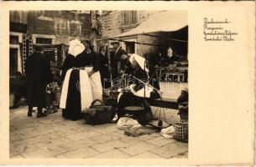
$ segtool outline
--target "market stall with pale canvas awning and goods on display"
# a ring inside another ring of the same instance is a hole
[[[188,23],[185,11],[154,13],[137,28],[108,40],[118,40],[124,47],[126,43],[133,43],[134,53],[148,59],[149,68],[157,78],[166,79],[173,74],[171,77],[176,81],[187,81]],[[168,48],[171,49],[170,56]]]

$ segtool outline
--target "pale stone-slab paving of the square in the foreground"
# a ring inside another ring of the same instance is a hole
[[[180,88],[176,96],[179,94]],[[179,119],[177,112],[165,109],[169,124]],[[10,158],[180,159],[187,156],[188,144],[165,139],[157,132],[130,137],[117,129],[116,124],[91,126],[83,120],[63,119],[61,110],[40,119],[36,114],[27,117],[26,107],[10,110]]]

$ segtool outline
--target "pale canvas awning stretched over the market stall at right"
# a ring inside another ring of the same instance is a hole
[[[185,28],[187,25],[187,13],[185,11],[163,11],[154,13],[137,28],[133,28],[114,38],[123,38],[143,33],[174,32]]]

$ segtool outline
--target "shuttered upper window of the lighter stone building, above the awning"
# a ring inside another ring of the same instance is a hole
[[[123,26],[129,26],[138,23],[137,11],[123,11]]]

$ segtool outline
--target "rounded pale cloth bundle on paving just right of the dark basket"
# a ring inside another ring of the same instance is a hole
[[[137,120],[128,117],[120,118],[117,124],[118,129],[136,129],[139,127],[141,127],[141,124],[139,124]]]

